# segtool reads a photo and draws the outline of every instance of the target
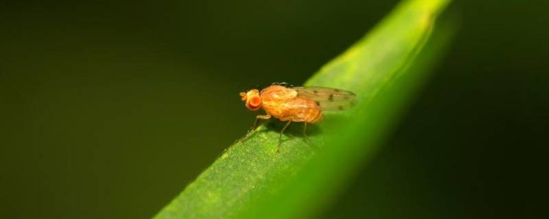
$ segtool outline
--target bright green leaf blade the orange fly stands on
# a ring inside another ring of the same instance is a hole
[[[295,123],[277,153],[279,123],[229,147],[156,218],[301,218],[318,214],[365,164],[428,76],[452,30],[434,21],[444,0],[404,1],[370,34],[325,65],[306,86],[358,94],[358,105]],[[443,28],[438,28],[443,27]],[[292,137],[293,136],[293,137]]]

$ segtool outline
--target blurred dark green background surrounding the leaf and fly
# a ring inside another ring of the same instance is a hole
[[[0,218],[148,218],[397,1],[2,1]],[[427,86],[326,218],[542,218],[549,3],[458,1]]]

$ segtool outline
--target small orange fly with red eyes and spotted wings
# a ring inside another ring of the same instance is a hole
[[[259,91],[257,89],[241,92],[242,101],[250,110],[263,108],[265,115],[256,116],[252,131],[257,127],[257,120],[268,120],[271,117],[288,121],[280,131],[277,153],[280,152],[282,135],[292,122],[305,123],[303,136],[307,136],[307,123],[317,123],[323,118],[324,111],[346,110],[356,104],[356,94],[348,90],[324,87],[287,88],[273,84]],[[242,141],[250,136],[251,131]]]

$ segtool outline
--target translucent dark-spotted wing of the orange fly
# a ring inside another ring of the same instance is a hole
[[[312,99],[322,110],[347,110],[356,105],[356,94],[349,90],[325,87],[294,87],[297,96]]]

